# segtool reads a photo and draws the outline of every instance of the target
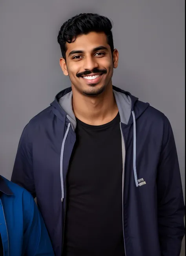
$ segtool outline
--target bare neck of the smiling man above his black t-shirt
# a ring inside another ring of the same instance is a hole
[[[102,125],[110,122],[118,113],[112,86],[97,96],[86,96],[72,86],[75,117],[86,124]]]

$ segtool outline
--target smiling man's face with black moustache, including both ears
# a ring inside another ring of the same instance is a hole
[[[118,51],[111,53],[105,33],[90,32],[79,35],[73,43],[66,43],[66,61],[60,65],[78,92],[96,96],[109,85],[113,68],[118,64]]]

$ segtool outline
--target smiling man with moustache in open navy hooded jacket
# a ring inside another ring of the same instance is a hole
[[[91,13],[62,25],[71,87],[24,128],[12,180],[37,197],[57,256],[178,256],[184,201],[170,122],[112,86],[111,28]]]

